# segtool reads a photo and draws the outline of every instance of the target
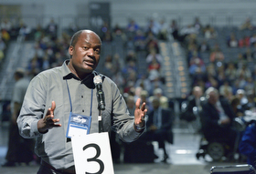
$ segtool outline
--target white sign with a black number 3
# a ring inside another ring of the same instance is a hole
[[[113,174],[109,134],[71,138],[77,174]]]

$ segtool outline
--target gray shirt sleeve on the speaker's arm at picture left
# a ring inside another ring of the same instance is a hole
[[[17,126],[23,138],[36,138],[41,134],[37,129],[37,122],[43,118],[45,110],[46,84],[40,77],[34,77],[25,95],[20,114],[17,118]]]

